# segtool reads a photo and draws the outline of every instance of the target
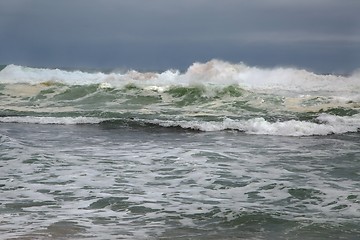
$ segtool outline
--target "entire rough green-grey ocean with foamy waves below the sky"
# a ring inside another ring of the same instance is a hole
[[[360,72],[0,70],[2,239],[360,239]]]

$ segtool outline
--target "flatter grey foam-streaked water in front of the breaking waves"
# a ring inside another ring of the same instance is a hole
[[[2,124],[2,234],[356,239],[359,139]]]

